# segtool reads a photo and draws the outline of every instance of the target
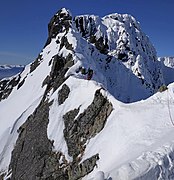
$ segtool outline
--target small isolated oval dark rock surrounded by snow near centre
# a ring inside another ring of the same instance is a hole
[[[68,95],[70,93],[70,88],[64,84],[62,86],[62,89],[59,91],[59,96],[58,96],[58,103],[63,104],[64,101],[68,98]]]

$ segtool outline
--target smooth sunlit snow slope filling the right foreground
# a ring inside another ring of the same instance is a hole
[[[169,90],[133,104],[110,96],[114,111],[103,131],[91,139],[84,159],[99,152],[97,168],[111,179],[173,179],[174,84]]]

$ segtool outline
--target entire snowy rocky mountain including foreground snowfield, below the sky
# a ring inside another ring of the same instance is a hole
[[[0,81],[0,179],[172,179],[173,64],[131,15],[60,9]]]

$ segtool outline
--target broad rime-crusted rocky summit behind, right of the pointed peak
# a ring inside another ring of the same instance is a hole
[[[103,18],[81,15],[74,19],[77,31],[87,42],[106,55],[105,59],[119,60],[142,81],[150,94],[164,83],[156,50],[134,17],[116,13]]]

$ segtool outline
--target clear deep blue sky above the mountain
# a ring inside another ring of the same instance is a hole
[[[62,7],[72,15],[133,15],[158,56],[174,56],[174,0],[5,0],[0,5],[0,64],[28,64],[42,50],[47,24]]]

